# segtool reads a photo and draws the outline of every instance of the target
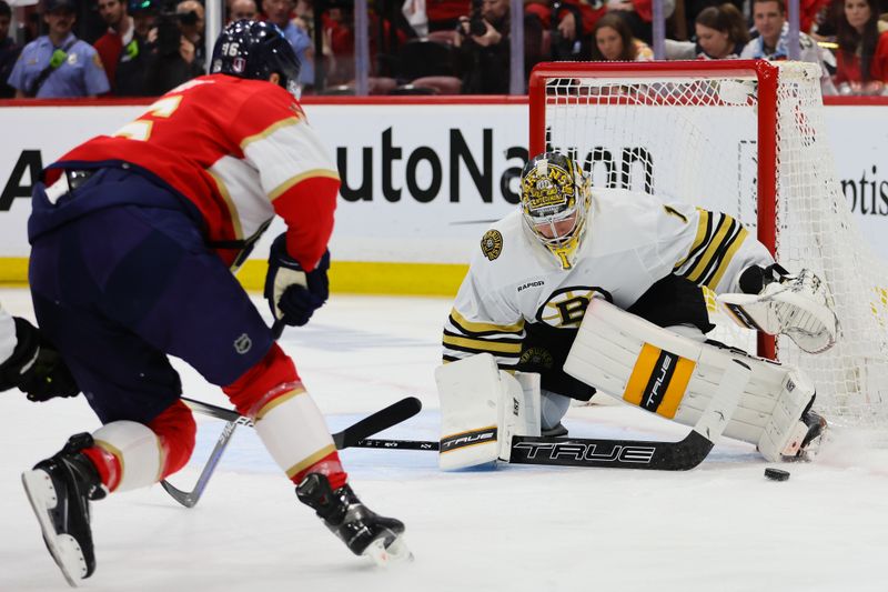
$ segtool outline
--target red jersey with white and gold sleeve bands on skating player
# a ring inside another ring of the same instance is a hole
[[[98,162],[130,162],[165,181],[201,212],[211,245],[249,244],[276,213],[287,224],[287,251],[311,271],[333,231],[336,167],[299,102],[265,81],[191,80],[56,165]],[[47,184],[58,174],[48,171]],[[239,250],[219,252],[231,264]]]

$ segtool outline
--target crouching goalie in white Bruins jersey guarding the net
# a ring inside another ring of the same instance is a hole
[[[704,288],[741,327],[810,353],[835,343],[826,285],[781,268],[737,220],[592,188],[557,152],[533,158],[519,208],[483,235],[444,327],[441,466],[507,460],[512,435],[566,435],[571,401],[596,391],[697,429],[708,412],[724,425],[704,435],[769,461],[807,455],[826,428],[814,384],[707,340]]]

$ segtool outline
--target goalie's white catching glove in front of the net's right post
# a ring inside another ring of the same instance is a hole
[[[740,327],[784,334],[808,353],[836,343],[836,313],[826,285],[810,270],[791,275],[777,263],[765,269],[754,265],[740,277],[740,289],[746,293],[716,299]]]

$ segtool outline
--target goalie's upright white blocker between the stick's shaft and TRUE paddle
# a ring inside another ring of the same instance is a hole
[[[513,435],[539,435],[539,375],[497,368],[481,353],[435,370],[441,400],[438,466],[507,461]]]

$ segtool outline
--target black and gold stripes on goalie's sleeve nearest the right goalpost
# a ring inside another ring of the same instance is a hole
[[[676,275],[715,290],[749,232],[734,218],[697,209],[697,234],[687,257],[673,268]]]

